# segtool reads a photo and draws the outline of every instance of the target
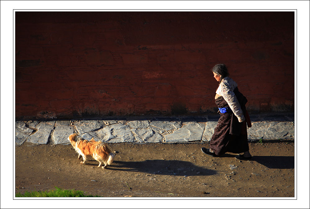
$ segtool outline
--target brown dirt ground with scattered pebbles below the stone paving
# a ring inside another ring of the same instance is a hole
[[[80,164],[69,145],[16,146],[16,192],[59,187],[101,197],[294,197],[294,143],[249,143],[251,161],[208,143],[110,143],[115,161]]]

